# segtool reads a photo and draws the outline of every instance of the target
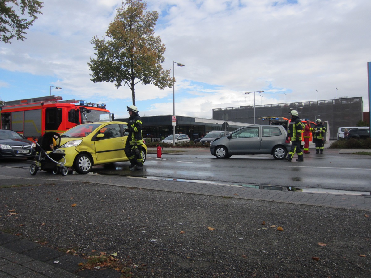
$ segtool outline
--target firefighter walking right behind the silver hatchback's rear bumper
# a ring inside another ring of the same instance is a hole
[[[291,149],[289,154],[285,157],[286,160],[291,161],[294,157],[294,153],[296,152],[298,154],[298,159],[296,161],[304,161],[303,152],[300,149],[301,140],[302,140],[302,132],[303,132],[303,124],[301,120],[299,119],[299,113],[296,110],[290,111],[291,120],[290,120],[290,126],[287,131],[286,140],[289,140],[289,137],[291,138]]]

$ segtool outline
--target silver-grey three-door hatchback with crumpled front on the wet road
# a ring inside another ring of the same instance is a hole
[[[217,158],[270,154],[275,159],[284,159],[289,149],[283,126],[244,126],[210,144],[210,153]]]

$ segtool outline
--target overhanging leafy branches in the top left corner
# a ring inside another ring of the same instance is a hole
[[[43,2],[37,0],[0,0],[0,41],[12,43],[11,39],[24,40],[25,31],[42,14]],[[18,12],[18,14],[17,14]],[[21,18],[20,14],[23,17]]]

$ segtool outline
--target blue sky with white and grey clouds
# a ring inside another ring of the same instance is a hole
[[[129,87],[93,83],[88,67],[92,37],[105,34],[119,6],[45,0],[24,42],[0,43],[1,99],[51,92],[126,117]],[[164,69],[185,64],[174,69],[176,115],[211,118],[213,108],[253,105],[244,92],[259,90],[256,105],[361,96],[368,111],[370,0],[148,0],[147,9],[160,14]],[[135,88],[140,115],[173,114],[172,88]]]

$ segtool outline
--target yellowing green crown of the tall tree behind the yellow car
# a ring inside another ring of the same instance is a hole
[[[158,19],[157,11],[145,11],[146,3],[141,0],[126,0],[117,9],[115,20],[108,26],[106,36],[93,37],[96,58],[88,63],[92,81],[122,83],[131,89],[135,105],[135,85],[153,84],[160,89],[171,87],[173,78],[170,70],[164,70],[165,45],[154,36]]]

